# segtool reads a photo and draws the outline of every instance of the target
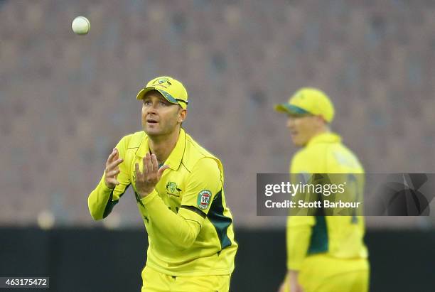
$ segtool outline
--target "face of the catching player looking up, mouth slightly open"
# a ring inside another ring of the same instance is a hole
[[[165,136],[178,130],[186,117],[186,109],[168,102],[159,92],[148,92],[142,100],[142,126],[150,136]]]

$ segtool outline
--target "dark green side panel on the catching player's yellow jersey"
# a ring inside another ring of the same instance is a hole
[[[218,238],[220,241],[220,247],[225,249],[225,247],[230,247],[231,240],[228,238],[227,230],[232,223],[232,219],[225,217],[223,215],[224,207],[222,204],[222,190],[216,194],[215,200],[213,200],[210,210],[208,211],[208,220],[212,222],[213,226],[218,233]]]

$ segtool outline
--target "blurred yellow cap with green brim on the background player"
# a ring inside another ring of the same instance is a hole
[[[331,123],[334,119],[334,105],[328,95],[316,88],[304,87],[296,91],[289,102],[275,105],[276,112],[286,114],[321,116]]]

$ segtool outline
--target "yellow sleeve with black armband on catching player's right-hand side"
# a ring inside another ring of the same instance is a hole
[[[202,190],[211,193],[204,210],[198,207],[198,195]],[[164,234],[175,247],[187,249],[198,237],[213,198],[220,190],[222,181],[218,164],[212,158],[201,158],[189,174],[178,213],[168,209],[156,189],[141,199],[144,207],[139,210],[147,213],[149,223],[159,229],[160,234]]]

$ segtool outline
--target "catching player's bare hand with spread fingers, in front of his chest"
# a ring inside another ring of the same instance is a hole
[[[144,166],[143,172],[139,171],[139,163],[135,164],[134,172],[136,173],[136,191],[141,198],[144,198],[156,188],[156,184],[159,183],[163,171],[169,168],[169,166],[165,165],[159,168],[156,155],[150,155],[149,153],[146,153],[142,163]]]

